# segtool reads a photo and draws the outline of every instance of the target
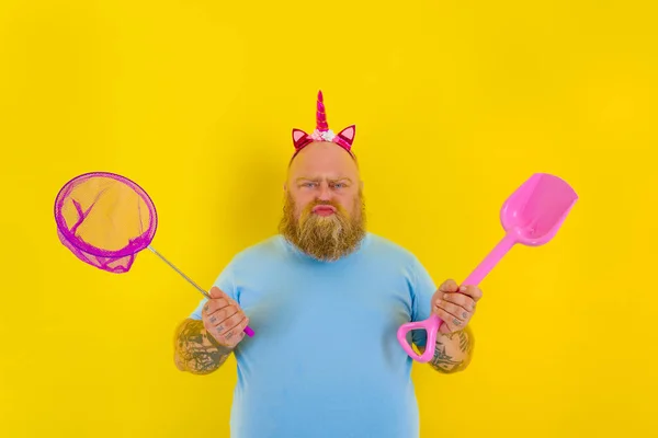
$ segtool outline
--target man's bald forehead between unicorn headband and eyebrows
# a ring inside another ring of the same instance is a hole
[[[293,160],[291,178],[297,177],[350,177],[356,180],[356,163],[340,146],[314,142],[305,147]]]

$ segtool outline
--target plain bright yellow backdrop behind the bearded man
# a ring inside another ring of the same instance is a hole
[[[422,437],[655,433],[650,3],[4,0],[0,436],[228,436],[235,361],[172,362],[201,296],[148,252],[127,275],[79,262],[53,201],[79,173],[136,180],[155,247],[208,286],[275,232],[318,89],[332,128],[358,125],[371,230],[436,281],[502,237],[533,172],[580,195],[551,244],[481,284],[468,371],[415,367]]]

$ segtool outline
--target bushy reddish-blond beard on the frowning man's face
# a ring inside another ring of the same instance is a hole
[[[313,212],[318,205],[336,208],[331,216]],[[324,262],[334,262],[354,252],[363,240],[365,230],[365,201],[361,191],[354,199],[354,214],[350,216],[340,204],[309,203],[297,219],[295,201],[287,192],[279,232],[305,254]]]

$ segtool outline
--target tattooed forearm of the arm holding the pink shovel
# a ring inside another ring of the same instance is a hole
[[[464,370],[470,362],[473,333],[468,327],[447,335],[439,334],[430,366],[441,372]]]

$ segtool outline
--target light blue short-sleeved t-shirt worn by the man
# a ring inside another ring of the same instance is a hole
[[[231,438],[419,436],[412,360],[396,333],[429,318],[436,287],[410,252],[367,233],[321,263],[274,235],[236,255],[215,286],[256,332],[235,349]]]

